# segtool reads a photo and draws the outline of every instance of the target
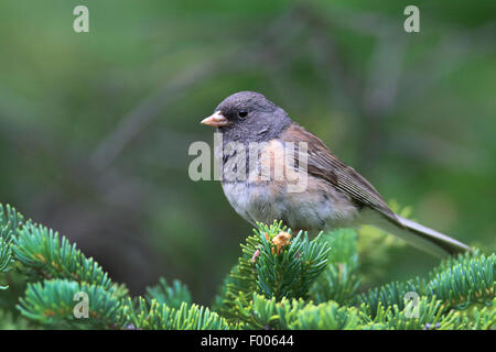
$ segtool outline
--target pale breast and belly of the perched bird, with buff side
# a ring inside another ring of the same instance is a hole
[[[285,152],[278,140],[265,143],[258,152],[225,148],[222,184],[233,208],[251,223],[282,220],[292,229],[322,230],[353,222],[357,209],[351,199],[327,182],[295,168],[294,158]],[[303,188],[294,191],[291,185],[299,182]]]

